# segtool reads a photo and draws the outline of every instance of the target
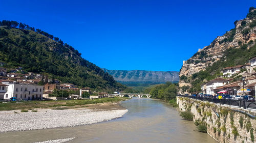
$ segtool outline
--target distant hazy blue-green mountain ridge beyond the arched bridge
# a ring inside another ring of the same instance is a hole
[[[179,72],[176,71],[144,71],[144,70],[108,70],[102,69],[104,72],[108,72],[118,82],[124,84],[133,83],[165,83],[179,82]]]

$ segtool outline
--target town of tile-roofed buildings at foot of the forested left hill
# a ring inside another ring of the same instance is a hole
[[[3,66],[4,63],[1,65]],[[62,93],[57,94],[57,91]],[[67,94],[63,96],[63,91],[68,93],[68,96]],[[89,87],[79,88],[72,83],[61,83],[58,79],[48,78],[48,75],[25,73],[22,67],[16,69],[0,67],[0,100],[78,99],[89,98],[92,94]]]

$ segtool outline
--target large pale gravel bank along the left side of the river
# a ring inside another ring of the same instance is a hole
[[[128,110],[38,109],[37,112],[0,111],[0,132],[70,127],[122,117]]]

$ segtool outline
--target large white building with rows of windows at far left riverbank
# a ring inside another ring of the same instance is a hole
[[[33,100],[42,98],[42,93],[44,91],[42,85],[11,80],[2,80],[2,83],[8,85],[4,99],[17,97],[17,99]]]

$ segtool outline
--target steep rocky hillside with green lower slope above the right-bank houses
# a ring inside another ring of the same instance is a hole
[[[202,83],[220,77],[223,68],[244,65],[256,56],[256,9],[251,7],[246,18],[234,21],[234,25],[183,65],[180,84],[190,83],[190,93],[200,92]]]

